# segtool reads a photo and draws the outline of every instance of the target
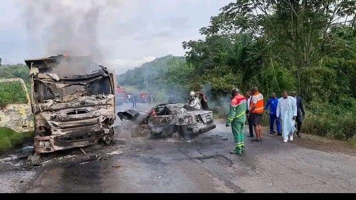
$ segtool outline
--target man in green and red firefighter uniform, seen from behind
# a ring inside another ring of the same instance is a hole
[[[245,152],[245,136],[243,134],[246,121],[247,100],[240,94],[238,88],[231,91],[230,113],[226,120],[226,127],[231,126],[235,142],[235,149],[230,154]]]

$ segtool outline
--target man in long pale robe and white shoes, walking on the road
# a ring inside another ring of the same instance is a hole
[[[278,100],[277,117],[282,125],[283,142],[293,141],[294,127],[297,118],[297,101],[294,97],[288,96],[284,91],[282,97]]]

